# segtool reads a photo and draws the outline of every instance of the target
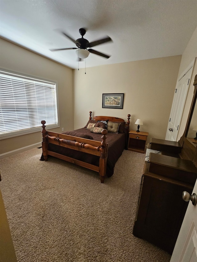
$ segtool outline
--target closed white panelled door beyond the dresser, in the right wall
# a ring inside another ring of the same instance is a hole
[[[185,100],[189,87],[189,82],[191,79],[192,68],[193,65],[181,78],[179,78],[178,83],[176,85],[169,124],[166,133],[166,140],[176,141],[177,139],[179,125],[181,122],[183,108],[185,105]]]

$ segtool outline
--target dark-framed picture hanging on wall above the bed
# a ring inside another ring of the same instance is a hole
[[[124,93],[103,94],[102,108],[123,109]]]

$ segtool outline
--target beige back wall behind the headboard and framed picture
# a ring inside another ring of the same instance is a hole
[[[117,116],[137,130],[165,139],[181,56],[162,57],[74,70],[74,129],[85,126],[93,115]],[[124,93],[123,109],[102,108],[103,93]]]

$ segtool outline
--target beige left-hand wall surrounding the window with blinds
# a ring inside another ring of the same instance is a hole
[[[61,132],[62,127],[65,131],[73,130],[73,69],[60,65],[1,38],[0,67],[57,81],[60,127],[53,129],[53,131]],[[3,139],[0,140],[0,154],[27,147],[41,141],[41,132]]]

